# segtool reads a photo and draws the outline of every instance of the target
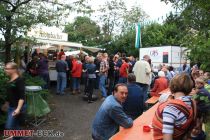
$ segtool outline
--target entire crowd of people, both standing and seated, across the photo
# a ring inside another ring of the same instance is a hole
[[[210,73],[200,70],[197,65],[191,68],[184,62],[178,73],[172,66],[162,65],[154,76],[148,55],[137,60],[120,53],[110,56],[98,53],[95,58],[87,55],[81,59],[79,55],[65,56],[61,51],[55,68],[58,73],[57,95],[65,95],[67,87],[73,95],[80,93],[83,81],[83,92],[88,103],[93,103],[93,91],[100,89],[103,103],[92,124],[94,140],[109,139],[119,126],[132,127],[133,120],[145,111],[145,101],[151,96],[160,96],[160,105],[152,122],[154,139],[180,139],[188,137],[188,132],[194,139],[205,137],[201,125],[207,107],[205,102],[196,99],[194,102],[192,97],[201,95],[210,100]],[[48,59],[44,54],[33,53],[32,60],[21,69],[31,76],[40,76],[45,81],[43,88],[49,88]],[[6,64],[5,72],[10,77],[9,83],[15,84],[7,91],[9,96],[5,106],[9,105],[9,112],[6,126],[7,129],[18,129],[18,117],[12,116],[18,116],[24,110],[24,82],[17,64]],[[159,94],[167,88],[171,94]],[[14,92],[17,94],[11,94]]]

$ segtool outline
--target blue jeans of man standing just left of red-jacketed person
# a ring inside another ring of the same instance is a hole
[[[66,73],[58,72],[57,77],[57,93],[64,94],[64,89],[66,88]]]

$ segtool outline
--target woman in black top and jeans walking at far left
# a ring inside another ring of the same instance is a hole
[[[18,130],[20,122],[20,114],[25,108],[25,83],[20,76],[18,66],[14,62],[9,62],[5,65],[5,73],[9,76],[7,88],[7,97],[4,110],[8,107],[8,117],[6,122],[6,129]]]

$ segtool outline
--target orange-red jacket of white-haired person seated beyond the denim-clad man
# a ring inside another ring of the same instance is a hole
[[[168,88],[168,80],[165,77],[160,77],[155,80],[154,87],[151,90],[151,96],[160,96],[158,93]]]

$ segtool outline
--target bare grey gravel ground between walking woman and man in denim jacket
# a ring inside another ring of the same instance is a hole
[[[66,95],[55,95],[55,87],[51,90],[49,104],[51,113],[47,120],[37,130],[54,130],[64,133],[63,137],[39,137],[33,140],[91,140],[91,124],[102,101],[98,99],[88,104],[82,99],[82,94],[71,95],[68,90]],[[94,91],[99,95],[99,90]]]

